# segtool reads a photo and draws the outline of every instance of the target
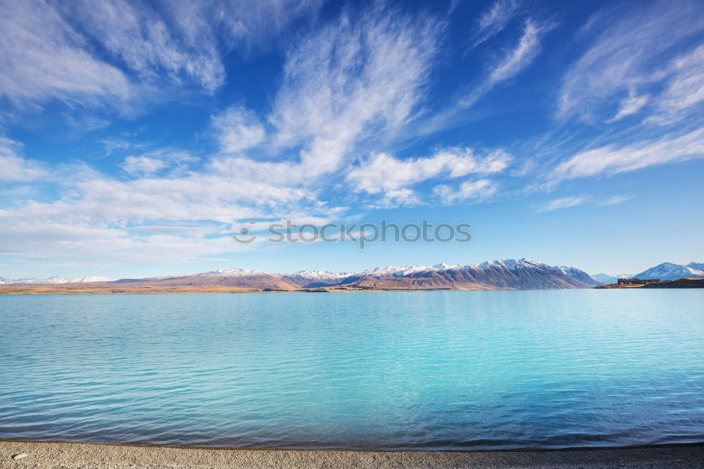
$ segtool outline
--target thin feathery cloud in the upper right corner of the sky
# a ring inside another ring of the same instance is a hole
[[[685,41],[704,32],[703,18],[704,6],[691,0],[655,1],[597,15],[585,34],[600,27],[601,32],[565,74],[558,118],[590,121],[614,115],[612,121],[619,120],[645,111],[646,94],[651,94],[656,114],[673,104],[677,108],[700,101],[702,51],[689,51],[674,62],[668,59],[675,48],[681,50]],[[624,95],[633,100],[623,101]],[[617,101],[621,104],[615,110]]]

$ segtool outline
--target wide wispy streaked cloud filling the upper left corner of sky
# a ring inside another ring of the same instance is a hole
[[[0,94],[125,111],[165,85],[211,93],[222,52],[251,47],[313,13],[320,1],[0,1]]]

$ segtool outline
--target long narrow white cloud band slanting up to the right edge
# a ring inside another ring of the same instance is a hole
[[[562,161],[550,175],[559,181],[606,173],[614,175],[651,165],[704,157],[704,127],[679,137],[662,137],[622,146],[582,151]]]

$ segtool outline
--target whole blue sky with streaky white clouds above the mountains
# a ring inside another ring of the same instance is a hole
[[[0,9],[2,277],[704,262],[700,1]],[[260,235],[282,220],[472,239]]]

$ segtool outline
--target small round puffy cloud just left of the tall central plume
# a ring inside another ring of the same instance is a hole
[[[241,107],[232,107],[213,115],[211,126],[218,136],[220,149],[237,153],[263,142],[265,130],[257,115]]]

